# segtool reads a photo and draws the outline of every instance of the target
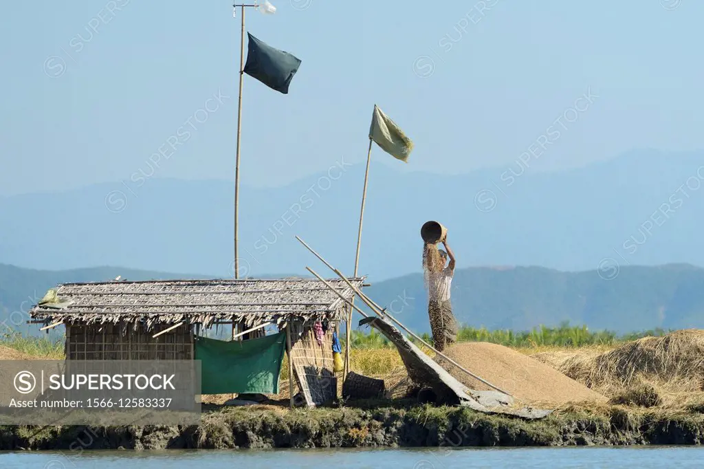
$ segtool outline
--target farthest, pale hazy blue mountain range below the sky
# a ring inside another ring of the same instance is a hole
[[[359,270],[377,283],[420,273],[427,220],[448,227],[460,268],[704,265],[703,152],[634,151],[556,173],[539,173],[540,161],[524,158],[456,176],[408,173],[382,158],[372,159]],[[303,274],[319,265],[299,235],[351,275],[363,173],[363,165],[331,157],[322,173],[286,187],[241,187],[241,273]],[[0,261],[232,275],[232,182],[133,176],[0,198]]]

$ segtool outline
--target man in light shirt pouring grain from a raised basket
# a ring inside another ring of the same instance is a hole
[[[428,316],[433,343],[437,351],[443,351],[457,340],[457,322],[452,314],[450,302],[450,287],[455,273],[455,254],[447,243],[443,242],[446,251],[438,250],[433,262],[433,256],[427,256],[425,265],[428,285]],[[434,245],[427,249],[436,249]],[[450,262],[447,266],[447,258]],[[432,265],[434,264],[434,265]]]

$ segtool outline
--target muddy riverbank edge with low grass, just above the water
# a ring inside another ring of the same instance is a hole
[[[391,403],[389,403],[391,404]],[[541,420],[469,409],[379,406],[218,408],[189,427],[0,427],[0,450],[702,444],[704,408],[558,409]]]

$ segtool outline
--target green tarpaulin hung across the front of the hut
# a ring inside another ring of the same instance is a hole
[[[201,393],[277,394],[285,349],[285,332],[242,342],[199,337],[195,351],[201,361]]]

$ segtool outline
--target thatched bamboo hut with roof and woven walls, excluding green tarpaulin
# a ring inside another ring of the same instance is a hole
[[[352,299],[343,280],[327,282]],[[319,280],[111,281],[61,284],[55,292],[30,316],[42,329],[65,325],[67,360],[192,360],[205,330],[238,324],[241,340],[271,325],[287,333],[289,370],[308,404],[335,392],[332,330],[347,306]]]

